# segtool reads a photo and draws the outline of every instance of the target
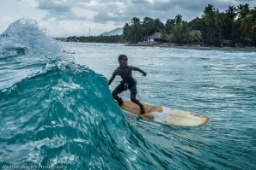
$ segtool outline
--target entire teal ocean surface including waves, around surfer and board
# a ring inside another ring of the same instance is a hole
[[[138,100],[209,122],[123,113],[111,95],[120,78],[107,85],[120,54],[148,73],[133,72]],[[0,169],[254,170],[255,83],[255,52],[63,43],[15,21],[0,35]]]

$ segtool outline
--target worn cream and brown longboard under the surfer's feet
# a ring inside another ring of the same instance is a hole
[[[131,114],[170,126],[201,126],[209,120],[207,116],[176,108],[155,106],[149,103],[143,103],[143,106],[145,114],[140,114],[139,106],[131,101],[124,101],[120,107]]]

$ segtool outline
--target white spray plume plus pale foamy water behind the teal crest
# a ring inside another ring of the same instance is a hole
[[[42,67],[61,62],[60,45],[46,36],[37,22],[21,18],[0,36],[0,89],[14,85],[27,75],[40,72]]]

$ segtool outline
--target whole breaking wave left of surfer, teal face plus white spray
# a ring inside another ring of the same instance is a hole
[[[107,79],[67,60],[34,21],[15,21],[0,44],[1,168],[171,168],[126,120]]]

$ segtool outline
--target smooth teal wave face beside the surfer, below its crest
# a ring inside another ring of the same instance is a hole
[[[53,67],[2,91],[2,164],[161,167],[143,156],[145,141],[111,97],[107,79],[76,65]]]

